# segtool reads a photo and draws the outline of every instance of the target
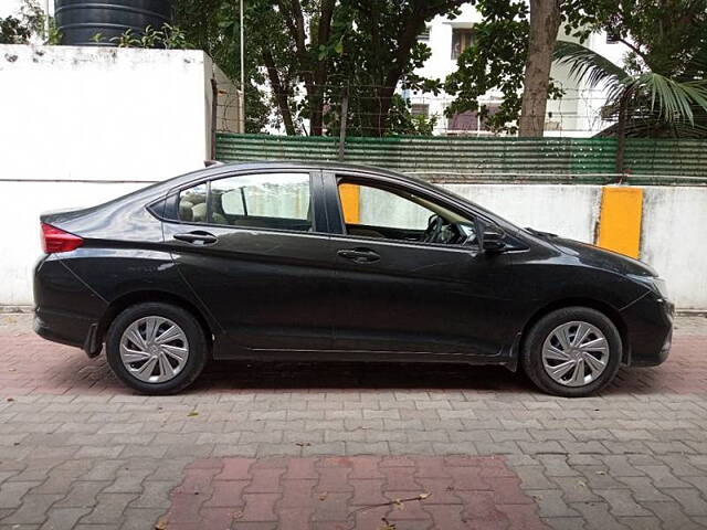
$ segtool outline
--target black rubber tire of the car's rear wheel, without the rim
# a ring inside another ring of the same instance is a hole
[[[124,331],[140,318],[157,316],[177,324],[189,342],[189,356],[181,371],[171,380],[152,383],[144,382],[129,373],[120,359],[120,338]],[[106,357],[108,364],[120,381],[144,394],[175,394],[196,381],[209,359],[209,344],[203,328],[194,316],[178,306],[162,303],[146,303],[130,306],[120,312],[106,333]]]

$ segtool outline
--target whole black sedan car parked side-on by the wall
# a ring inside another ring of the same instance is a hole
[[[521,367],[582,396],[671,347],[648,266],[381,169],[217,166],[41,226],[35,331],[105,344],[145,393],[210,360],[284,359]]]

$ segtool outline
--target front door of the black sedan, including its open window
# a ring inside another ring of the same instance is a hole
[[[479,252],[475,222],[420,190],[325,173],[342,230],[336,258],[335,349],[502,356],[511,258]],[[336,223],[335,223],[336,226]],[[336,232],[336,231],[335,231]]]

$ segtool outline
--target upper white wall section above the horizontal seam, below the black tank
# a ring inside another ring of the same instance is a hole
[[[211,153],[200,51],[0,45],[0,178],[159,180]]]

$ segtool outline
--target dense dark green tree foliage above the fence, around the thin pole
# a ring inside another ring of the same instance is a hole
[[[395,87],[439,91],[440,80],[414,74],[430,56],[418,35],[436,14],[463,0],[247,0],[246,119],[278,109],[288,134],[338,134],[348,91],[351,134],[382,136],[393,126]],[[177,0],[179,25],[229,75],[240,76],[238,4]],[[270,84],[270,98],[261,87]],[[257,118],[261,119],[257,119]],[[398,119],[398,118],[395,118]],[[309,130],[304,130],[305,120]],[[246,129],[253,130],[247,126]]]

